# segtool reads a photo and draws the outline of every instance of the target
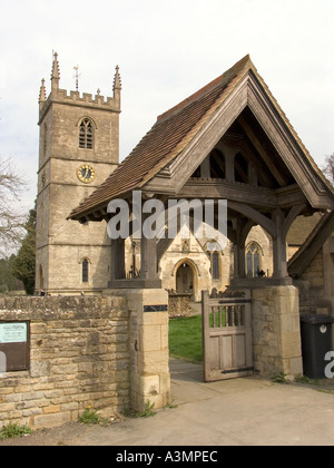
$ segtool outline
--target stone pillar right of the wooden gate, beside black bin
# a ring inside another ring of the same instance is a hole
[[[294,286],[252,291],[255,370],[273,377],[303,373],[299,298]]]

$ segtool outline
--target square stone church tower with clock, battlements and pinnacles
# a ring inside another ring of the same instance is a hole
[[[100,223],[79,225],[67,217],[119,163],[121,84],[114,96],[59,88],[55,53],[51,92],[39,96],[36,290],[50,294],[98,293],[107,287],[110,240]]]

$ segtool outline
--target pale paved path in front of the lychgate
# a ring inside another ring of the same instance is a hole
[[[108,428],[69,425],[11,445],[334,445],[334,380],[333,393],[324,393],[257,377],[204,383],[202,365],[174,359],[170,371],[175,409]]]

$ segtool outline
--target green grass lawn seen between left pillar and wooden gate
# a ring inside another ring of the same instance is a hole
[[[169,353],[191,362],[203,361],[202,315],[169,320]]]

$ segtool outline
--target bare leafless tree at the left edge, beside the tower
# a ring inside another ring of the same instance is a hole
[[[12,159],[0,157],[0,256],[12,253],[24,237],[27,213],[20,207],[20,197],[26,187]]]

